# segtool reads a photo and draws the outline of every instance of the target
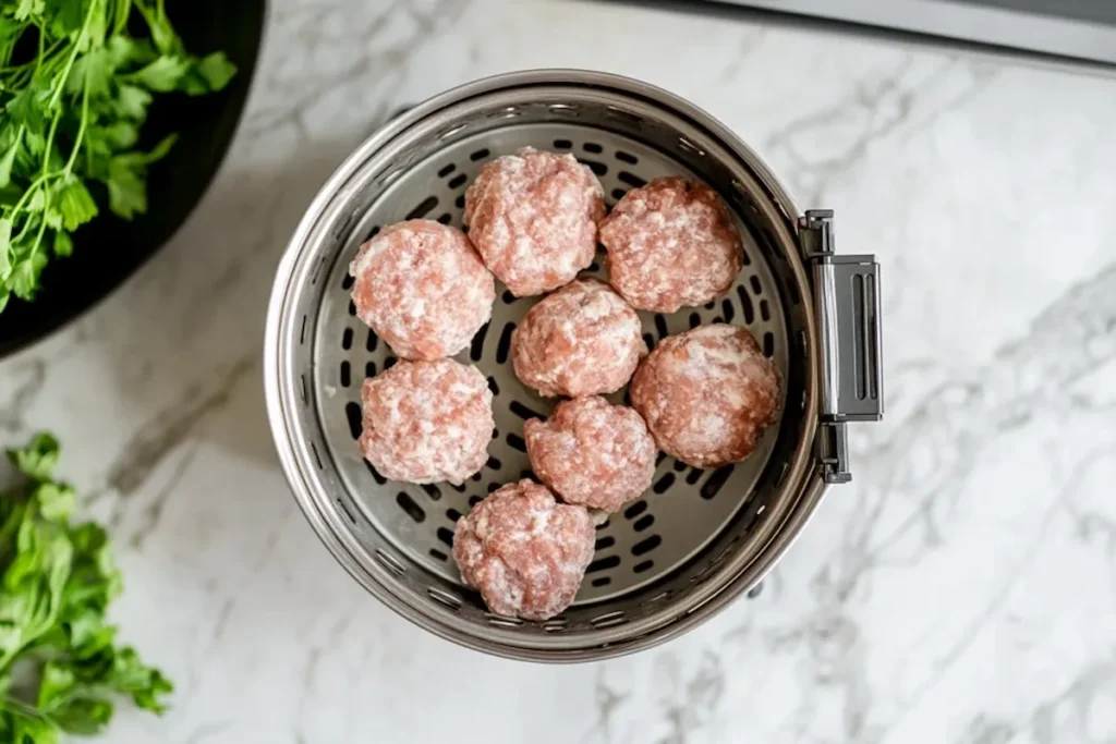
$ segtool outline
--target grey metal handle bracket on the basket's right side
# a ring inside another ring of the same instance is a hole
[[[821,330],[817,456],[827,482],[845,483],[852,477],[845,424],[879,421],[884,413],[879,264],[874,255],[836,254],[833,218],[833,210],[810,210],[799,219],[799,234]]]

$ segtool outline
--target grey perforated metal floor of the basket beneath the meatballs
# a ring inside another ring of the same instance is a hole
[[[494,396],[497,431],[487,466],[462,486],[413,485],[388,481],[365,462],[356,447],[360,434],[360,383],[395,363],[387,345],[356,317],[349,299],[348,263],[359,244],[384,225],[426,218],[461,226],[466,186],[485,161],[531,145],[571,152],[605,186],[609,206],[629,189],[663,175],[695,174],[677,160],[623,135],[577,124],[537,123],[502,127],[463,138],[412,166],[373,202],[345,250],[325,278],[314,328],[317,413],[328,455],[344,484],[352,521],[367,524],[414,564],[444,580],[432,590],[446,606],[473,602],[471,592],[452,590],[460,578],[452,559],[453,526],[471,505],[500,485],[530,477],[522,439],[523,422],[545,417],[550,399],[525,388],[509,360],[511,332],[539,298],[516,299],[498,284],[492,320],[458,358],[475,364]],[[641,312],[650,347],[667,335],[700,323],[727,321],[747,327],[764,352],[788,373],[787,323],[775,280],[743,229],[744,265],[735,284],[703,308],[672,315]],[[586,274],[604,278],[602,255]],[[626,400],[626,393],[613,396]],[[770,455],[775,427],[744,463],[699,470],[660,454],[652,489],[597,530],[597,550],[575,607],[616,599],[662,579],[698,554],[739,512]],[[762,504],[756,505],[757,511]]]

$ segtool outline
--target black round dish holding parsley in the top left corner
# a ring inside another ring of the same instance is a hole
[[[35,301],[12,297],[0,312],[0,356],[75,319],[154,255],[201,201],[232,144],[256,71],[267,0],[194,0],[172,3],[169,15],[186,49],[223,50],[237,65],[237,77],[209,96],[156,96],[140,144],[153,145],[171,132],[179,141],[152,166],[147,213],[126,222],[98,200],[102,214],[74,233],[73,255],[47,264]]]

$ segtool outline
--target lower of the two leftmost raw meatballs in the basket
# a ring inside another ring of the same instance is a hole
[[[360,388],[360,454],[384,476],[460,484],[488,462],[492,392],[453,359],[401,361]]]

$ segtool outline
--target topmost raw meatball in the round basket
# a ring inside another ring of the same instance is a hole
[[[525,147],[485,163],[469,186],[469,236],[512,294],[541,294],[593,263],[604,195],[573,155]]]

